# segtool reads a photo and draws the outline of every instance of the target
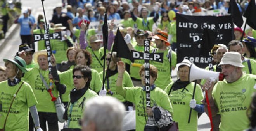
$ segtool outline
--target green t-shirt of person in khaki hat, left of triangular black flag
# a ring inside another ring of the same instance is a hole
[[[90,52],[90,54],[92,55],[92,64],[90,65],[90,67],[92,69],[95,69],[98,72],[103,71],[103,59],[101,60],[101,58],[104,55],[104,49],[103,47],[101,47],[99,50],[92,50],[91,47],[87,47],[86,50],[88,52]],[[107,53],[107,50],[106,50]],[[98,59],[97,59],[98,58]]]

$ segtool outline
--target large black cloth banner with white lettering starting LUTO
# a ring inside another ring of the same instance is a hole
[[[177,63],[189,59],[196,66],[208,66],[208,57],[200,56],[202,34],[205,28],[216,34],[215,44],[225,44],[232,40],[232,17],[227,16],[191,16],[176,14]],[[213,34],[213,35],[214,35]]]

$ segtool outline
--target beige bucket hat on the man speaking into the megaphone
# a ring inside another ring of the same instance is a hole
[[[227,65],[227,64],[236,66],[236,67],[244,67],[244,65],[242,65],[241,54],[238,52],[226,52],[223,55],[221,62],[218,66]]]

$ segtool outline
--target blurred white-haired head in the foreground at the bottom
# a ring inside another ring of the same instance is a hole
[[[90,99],[81,121],[82,131],[121,131],[125,107],[114,97]]]

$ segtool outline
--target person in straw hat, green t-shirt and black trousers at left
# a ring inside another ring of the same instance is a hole
[[[19,52],[19,55],[23,58],[26,57],[25,52]],[[47,91],[50,87],[49,66],[47,59],[46,50],[40,50],[35,52],[34,61],[38,66],[35,66],[28,70],[23,76],[24,81],[28,82],[35,93],[38,104],[36,105],[40,120],[40,125],[43,130],[46,131],[46,121],[48,123],[48,129],[50,131],[59,131],[58,128],[58,118],[56,114],[56,107],[51,95]],[[48,87],[47,87],[48,86]],[[54,97],[58,97],[59,94],[64,94],[66,91],[66,86],[55,81],[52,88],[52,94]],[[33,123],[29,124],[30,130],[33,130]]]

